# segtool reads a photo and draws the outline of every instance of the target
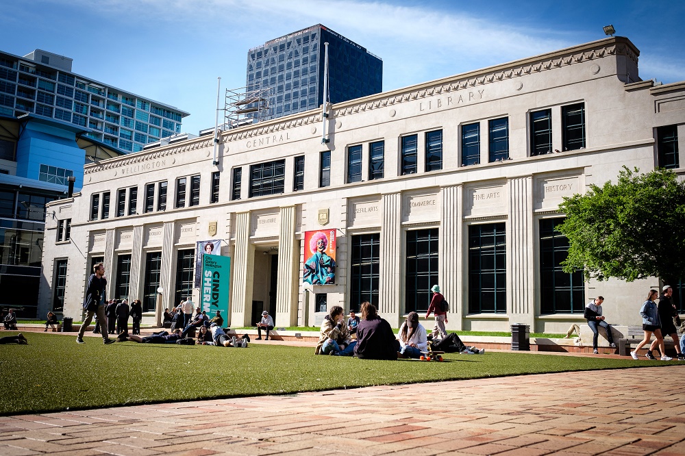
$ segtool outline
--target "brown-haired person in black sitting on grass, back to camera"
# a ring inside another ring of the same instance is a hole
[[[354,355],[361,359],[397,359],[399,340],[393,328],[376,313],[369,301],[362,303],[362,320],[357,325]]]

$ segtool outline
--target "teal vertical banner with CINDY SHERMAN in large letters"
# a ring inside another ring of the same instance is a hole
[[[202,283],[200,296],[202,309],[207,316],[214,318],[217,310],[227,320],[228,288],[231,283],[231,257],[221,255],[202,255]]]

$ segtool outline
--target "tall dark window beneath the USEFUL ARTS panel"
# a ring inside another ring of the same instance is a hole
[[[358,311],[364,301],[378,308],[380,240],[379,233],[352,236],[351,310]]]

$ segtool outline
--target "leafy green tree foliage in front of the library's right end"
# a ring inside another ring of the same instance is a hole
[[[685,183],[672,170],[623,166],[616,183],[592,185],[560,209],[566,220],[557,229],[569,238],[564,272],[582,268],[586,280],[600,281],[685,277]]]

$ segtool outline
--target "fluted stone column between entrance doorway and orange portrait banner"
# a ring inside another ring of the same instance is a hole
[[[295,240],[295,206],[281,207],[278,236],[278,277],[276,286],[276,321],[279,326],[297,325],[297,264],[299,242]],[[298,247],[296,251],[296,246]]]

